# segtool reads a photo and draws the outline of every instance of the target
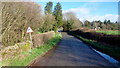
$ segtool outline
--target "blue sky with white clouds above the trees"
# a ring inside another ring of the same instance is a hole
[[[92,0],[93,1],[93,0]],[[95,0],[94,0],[95,1]],[[42,6],[42,10],[47,2],[37,2]],[[53,6],[57,2],[53,2]],[[62,13],[73,12],[81,21],[84,20],[111,20],[118,21],[118,2],[60,2]],[[54,9],[54,7],[53,7]]]

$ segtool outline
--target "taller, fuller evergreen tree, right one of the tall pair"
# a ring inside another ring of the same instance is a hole
[[[57,5],[54,8],[54,12],[53,12],[55,19],[56,19],[56,27],[59,28],[62,26],[62,7],[60,5],[60,3],[58,2]],[[56,28],[55,28],[56,29]]]

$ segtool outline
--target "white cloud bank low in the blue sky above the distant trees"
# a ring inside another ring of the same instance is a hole
[[[81,21],[89,20],[101,20],[104,21],[105,19],[111,20],[112,22],[118,21],[118,15],[113,14],[105,14],[105,15],[96,15],[93,12],[96,12],[97,9],[89,8],[89,7],[79,7],[79,8],[71,8],[68,10],[63,11],[63,13],[66,12],[73,12],[76,14],[77,18],[79,18]]]

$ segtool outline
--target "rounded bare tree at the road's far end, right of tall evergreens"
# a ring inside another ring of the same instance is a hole
[[[63,14],[63,28],[65,30],[71,30],[80,28],[82,22],[76,17],[73,12],[67,12]]]

